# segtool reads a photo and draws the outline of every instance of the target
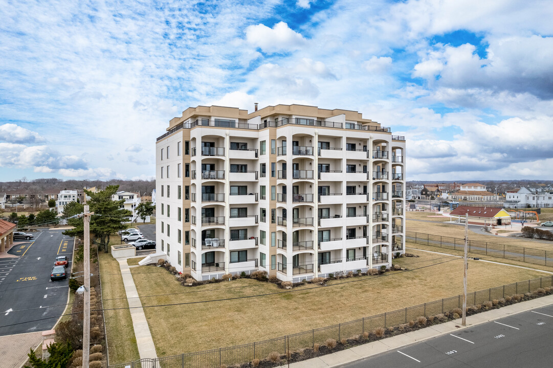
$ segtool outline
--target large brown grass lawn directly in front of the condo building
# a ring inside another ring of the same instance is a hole
[[[413,270],[453,259],[414,251],[419,258],[402,258],[409,272],[330,281],[309,290],[232,301],[144,308],[158,356],[220,348],[292,334],[372,316],[462,292],[462,260]],[[160,267],[131,269],[143,306],[186,303],[281,292],[271,283],[242,279],[199,287],[183,287]],[[471,261],[469,290],[542,276],[538,271]],[[346,282],[355,281],[355,282]],[[332,286],[330,286],[332,285]],[[154,296],[178,293],[170,296]],[[270,313],[270,318],[267,318]],[[178,332],[176,334],[175,332]]]

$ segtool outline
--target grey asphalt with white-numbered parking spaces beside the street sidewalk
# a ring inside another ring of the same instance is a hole
[[[549,367],[552,336],[553,306],[547,306],[342,367]]]

